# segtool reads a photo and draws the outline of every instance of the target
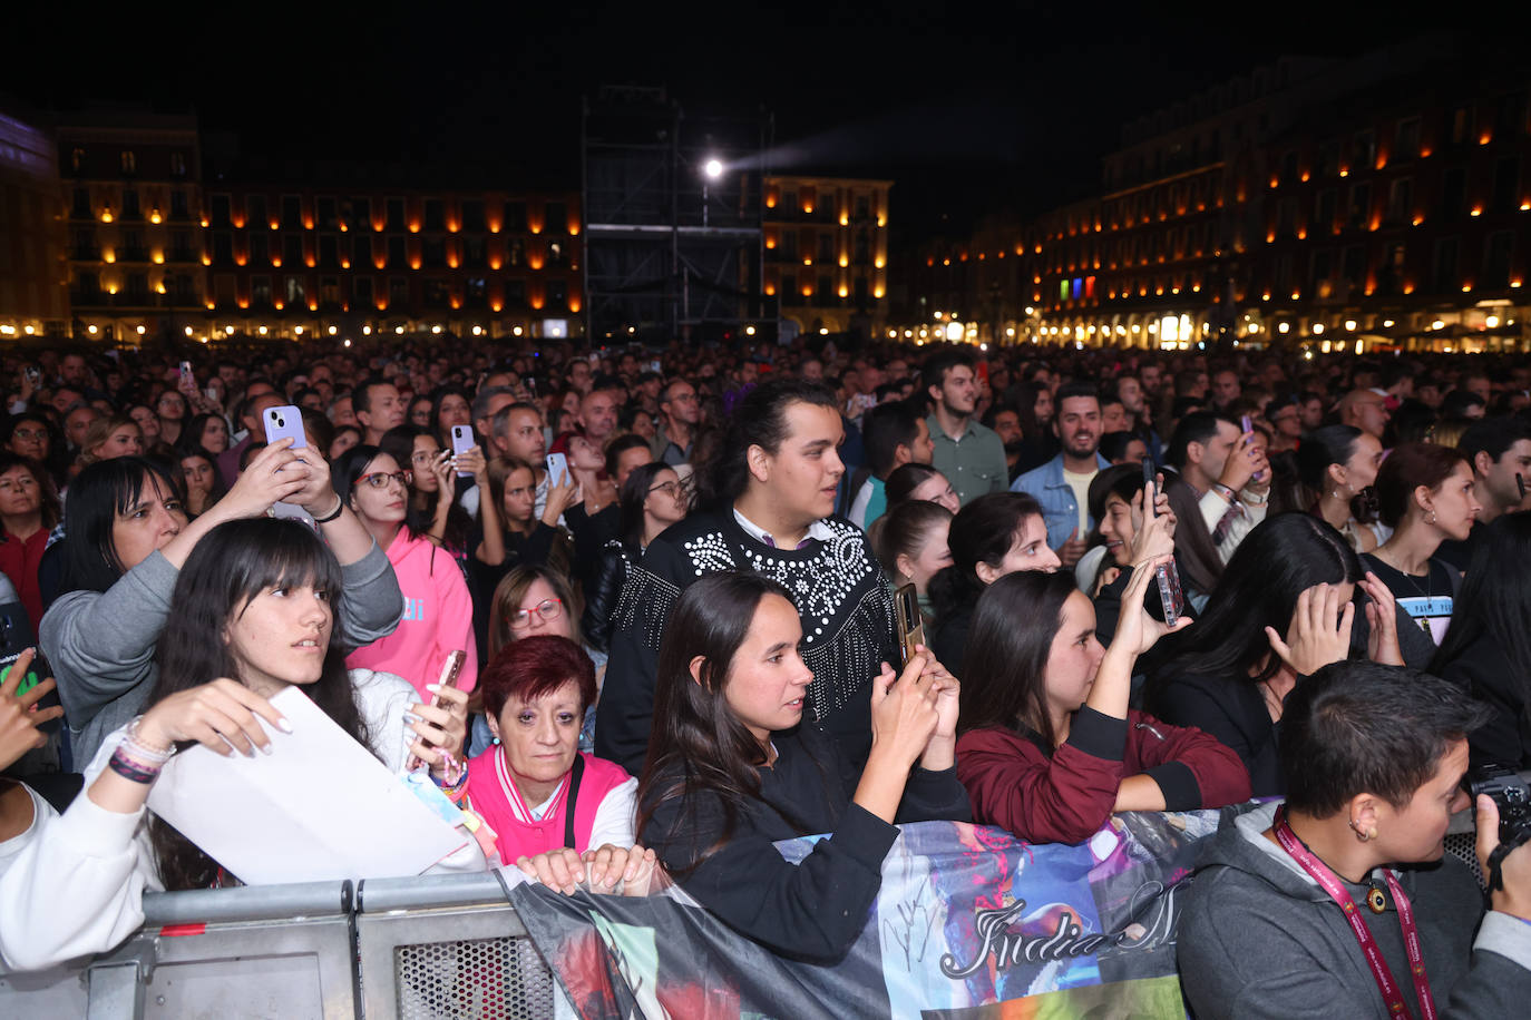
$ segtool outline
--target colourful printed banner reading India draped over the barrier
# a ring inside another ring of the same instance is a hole
[[[600,1020],[1185,1020],[1174,937],[1234,809],[1115,815],[1078,846],[955,821],[900,826],[844,960],[779,957],[681,896],[511,890],[568,1003]],[[799,862],[822,836],[776,844]]]

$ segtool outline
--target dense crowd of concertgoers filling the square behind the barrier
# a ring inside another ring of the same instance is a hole
[[[149,792],[299,687],[487,824],[433,870],[675,882],[834,960],[897,823],[1254,797],[1191,887],[1197,1015],[1531,991],[1491,800],[1487,908],[1435,864],[1468,765],[1531,768],[1531,361],[392,339],[0,359],[8,966],[236,882]]]

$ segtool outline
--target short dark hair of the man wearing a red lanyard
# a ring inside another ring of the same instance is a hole
[[[1356,794],[1402,807],[1450,745],[1488,722],[1456,684],[1401,665],[1334,662],[1298,681],[1281,708],[1286,803],[1329,818]]]

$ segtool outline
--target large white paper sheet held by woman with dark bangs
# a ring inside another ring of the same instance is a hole
[[[149,807],[242,882],[419,875],[467,846],[297,687],[271,699],[292,725],[262,720],[271,754],[201,745],[165,765]]]

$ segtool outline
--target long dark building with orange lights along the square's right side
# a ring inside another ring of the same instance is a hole
[[[1098,196],[926,272],[1001,343],[1528,349],[1528,86],[1441,40],[1286,58],[1128,124]]]

